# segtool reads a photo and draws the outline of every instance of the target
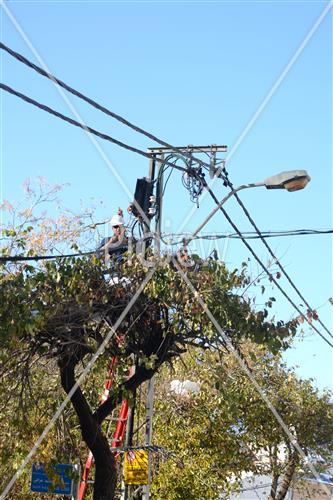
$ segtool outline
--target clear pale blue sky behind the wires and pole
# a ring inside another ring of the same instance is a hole
[[[173,145],[215,143],[233,150],[327,5],[12,0],[5,2],[7,12],[1,10],[1,39],[37,63],[22,38],[25,33],[57,77]],[[1,75],[4,83],[73,116],[50,81],[4,53]],[[73,96],[68,98],[88,125],[141,149],[155,145]],[[118,206],[126,208],[128,193],[133,193],[136,178],[146,175],[148,161],[104,141],[97,143],[99,151],[83,131],[3,93],[2,199],[20,199],[26,178],[44,176],[50,183],[70,184],[63,199],[73,210],[103,200],[97,213],[103,220]],[[332,11],[304,44],[227,168],[235,185],[282,170],[308,170],[312,181],[304,191],[249,190],[242,199],[262,230],[332,227]],[[225,194],[221,182],[214,190],[219,198]],[[212,206],[208,198],[203,200],[183,229],[195,229]],[[177,232],[191,208],[174,172],[165,195],[165,230]],[[239,228],[251,229],[234,202],[226,208]],[[205,232],[229,229],[223,215],[217,214]],[[332,331],[332,238],[268,241]],[[253,247],[267,262],[263,245],[253,242]],[[223,253],[222,243],[219,251]],[[247,257],[237,240],[225,253],[230,267]],[[252,261],[251,266],[255,275],[257,265]],[[301,303],[285,279],[280,283]],[[277,315],[288,320],[292,307],[275,295]],[[332,387],[332,349],[309,329],[286,359],[319,387]]]

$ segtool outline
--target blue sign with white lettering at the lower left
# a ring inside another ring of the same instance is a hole
[[[73,479],[68,477],[67,473],[72,473],[73,465],[56,464],[51,465],[51,468],[60,477],[56,484],[54,482],[52,483],[51,479],[49,479],[43,464],[32,465],[31,491],[38,493],[54,493],[56,495],[71,495]]]

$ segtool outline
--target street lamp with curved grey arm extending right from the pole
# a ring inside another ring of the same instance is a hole
[[[267,177],[262,182],[253,182],[251,184],[242,184],[237,188],[230,191],[214,208],[206,219],[200,224],[200,226],[194,231],[186,243],[192,241],[196,235],[201,231],[201,229],[207,224],[207,222],[216,214],[216,212],[224,205],[226,201],[231,198],[235,193],[241,191],[242,189],[249,189],[254,187],[265,187],[266,189],[286,189],[287,191],[299,191],[304,189],[305,186],[310,182],[311,177],[306,170],[289,170],[287,172],[281,172],[280,174],[273,175],[272,177]]]

